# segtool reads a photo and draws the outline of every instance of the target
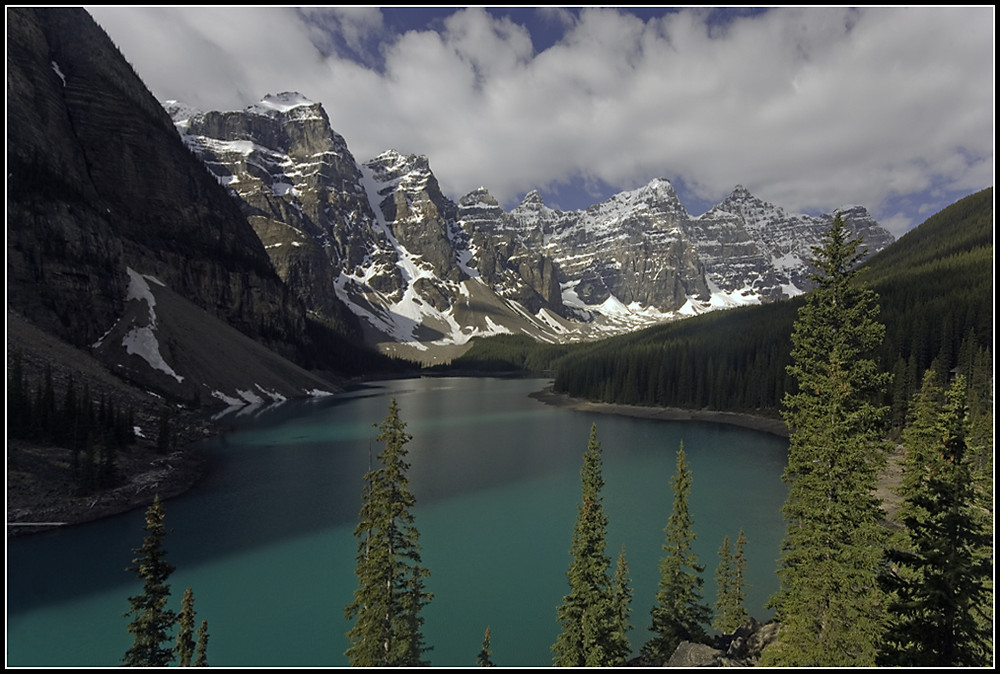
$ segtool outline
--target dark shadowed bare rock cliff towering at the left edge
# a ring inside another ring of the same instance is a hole
[[[7,40],[8,310],[89,348],[128,320],[138,274],[190,311],[307,358],[315,345],[304,337],[305,311],[261,239],[89,14],[11,8]],[[176,353],[186,340],[174,334]],[[105,362],[129,359],[128,343],[102,344]],[[142,367],[134,378],[184,399],[210,398],[198,372],[174,369],[182,380]],[[216,383],[235,396],[255,369],[230,375],[242,380]],[[303,388],[282,390],[296,393]]]

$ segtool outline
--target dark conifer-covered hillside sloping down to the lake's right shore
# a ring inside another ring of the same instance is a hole
[[[879,295],[882,366],[894,425],[924,371],[955,368],[984,388],[992,377],[993,188],[949,206],[869,259],[860,281]],[[720,311],[590,344],[482,340],[455,367],[555,370],[555,389],[636,405],[777,415],[802,298]]]

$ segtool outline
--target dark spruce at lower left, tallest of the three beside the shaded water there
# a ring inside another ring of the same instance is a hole
[[[129,610],[122,614],[133,617],[127,629],[134,641],[122,658],[128,667],[166,667],[173,658],[169,632],[177,616],[167,608],[170,596],[167,581],[174,567],[166,560],[163,549],[166,537],[163,517],[163,505],[157,496],[146,510],[146,537],[142,546],[135,549],[136,556],[127,569],[143,581],[142,594],[129,597]]]

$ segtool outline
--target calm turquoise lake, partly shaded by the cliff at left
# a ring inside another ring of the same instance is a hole
[[[580,500],[591,424],[604,453],[608,554],[622,545],[632,576],[630,634],[649,636],[669,481],[677,449],[694,475],[695,552],[703,598],[715,603],[724,536],[748,538],[747,609],[777,589],[787,494],[786,439],[702,422],[585,414],[528,397],[543,379],[423,378],[233,417],[208,442],[210,468],[166,502],[171,607],[194,589],[208,620],[213,666],[343,666],[344,606],[356,587],[353,531],[362,478],[395,397],[413,440],[410,487],[433,601],[424,636],[435,666],[475,664],[491,627],[493,660],[546,666]],[[7,665],[115,666],[131,641],[125,571],[142,543],[143,513],[7,541]]]

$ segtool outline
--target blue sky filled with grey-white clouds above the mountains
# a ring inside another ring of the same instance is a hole
[[[91,7],[161,101],[298,91],[355,158],[457,200],[584,208],[653,178],[862,204],[899,235],[993,184],[994,8]]]

